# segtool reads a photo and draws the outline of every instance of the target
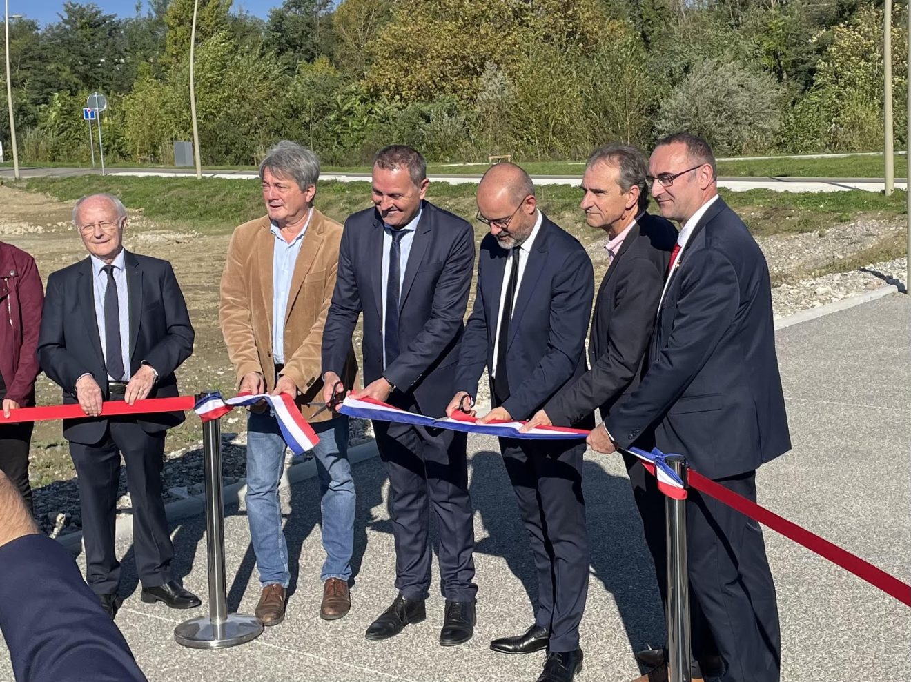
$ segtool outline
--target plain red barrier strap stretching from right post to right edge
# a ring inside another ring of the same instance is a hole
[[[799,545],[804,545],[804,547],[824,559],[828,559],[834,565],[841,566],[844,570],[863,578],[870,585],[881,589],[885,594],[894,596],[902,604],[911,606],[911,585],[903,583],[894,575],[887,574],[884,570],[876,568],[875,565],[865,562],[859,556],[851,554],[838,545],[833,545],[819,535],[801,528],[799,525],[782,518],[774,512],[770,512],[765,507],[746,499],[742,495],[733,493],[722,484],[712,481],[711,478],[706,478],[692,469],[687,473],[690,486],[701,491],[701,493],[711,495],[711,497],[733,507],[738,512],[746,514],[763,525],[767,525],[773,531],[791,538]]]

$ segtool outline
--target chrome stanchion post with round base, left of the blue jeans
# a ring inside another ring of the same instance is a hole
[[[197,401],[210,393],[196,396]],[[174,628],[178,644],[197,649],[220,649],[249,642],[262,634],[256,616],[229,614],[225,583],[224,499],[221,493],[221,424],[202,424],[205,460],[206,550],[209,560],[209,616],[190,618]]]

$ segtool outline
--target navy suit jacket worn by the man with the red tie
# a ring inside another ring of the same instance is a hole
[[[675,270],[649,370],[605,424],[622,447],[655,425],[661,451],[711,478],[752,472],[791,449],[765,257],[718,198]]]

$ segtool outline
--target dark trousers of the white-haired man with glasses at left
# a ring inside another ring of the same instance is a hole
[[[120,584],[114,522],[121,454],[133,505],[133,553],[139,580],[144,587],[171,580],[174,546],[161,499],[164,449],[165,432],[146,433],[138,423],[127,420],[110,420],[99,443],[69,443],[82,507],[86,582],[97,595],[115,594]]]

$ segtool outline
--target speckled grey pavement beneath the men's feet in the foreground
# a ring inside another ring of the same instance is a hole
[[[763,467],[760,504],[822,534],[908,581],[911,568],[911,300],[894,294],[777,332],[793,451]],[[325,622],[321,598],[318,485],[308,480],[282,493],[296,575],[288,617],[258,640],[222,651],[196,651],[173,641],[191,612],[138,599],[128,538],[118,626],[152,682],[374,682],[374,680],[534,680],[543,653],[505,657],[487,645],[532,622],[535,594],[527,540],[496,443],[469,440],[476,507],[478,625],[464,646],[436,644],[443,599],[435,578],[428,618],[386,642],[363,631],[394,596],[394,546],[386,510],[387,483],[377,459],[355,467],[356,584],[349,616]],[[593,546],[589,606],[582,623],[586,667],[578,679],[624,682],[636,677],[632,652],[663,642],[657,590],[619,458],[589,453],[584,491]],[[251,613],[259,585],[244,509],[226,519],[229,605]],[[201,517],[173,525],[177,567],[185,584],[206,594]],[[911,678],[908,609],[873,586],[783,536],[765,530],[778,588],[783,680]],[[79,557],[78,561],[82,562]],[[204,598],[204,597],[203,597]],[[0,653],[0,680],[11,680]]]

